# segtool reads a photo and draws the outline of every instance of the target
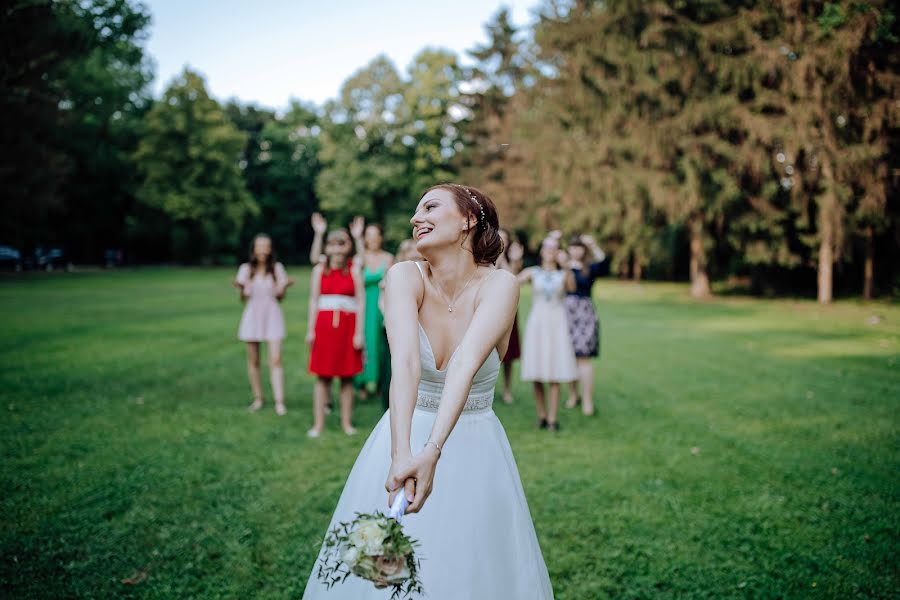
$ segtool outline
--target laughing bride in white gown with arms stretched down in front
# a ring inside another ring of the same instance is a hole
[[[425,192],[410,221],[427,262],[398,263],[386,277],[390,411],[360,452],[329,529],[403,493],[407,514],[419,513],[403,528],[419,541],[427,598],[552,599],[509,441],[491,410],[519,299],[515,276],[492,266],[502,250],[497,211],[475,188],[442,184]],[[356,577],[326,589],[317,570],[305,600],[390,596]]]

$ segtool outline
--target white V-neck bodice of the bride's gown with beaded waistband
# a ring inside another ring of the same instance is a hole
[[[456,351],[453,351],[456,354]],[[452,355],[451,355],[452,358]],[[441,395],[444,392],[444,380],[447,377],[447,369],[440,370],[434,359],[434,351],[431,341],[422,325],[419,325],[419,359],[421,362],[422,377],[419,380],[416,408],[436,411],[441,403]],[[494,403],[494,385],[497,383],[497,374],[500,372],[500,355],[497,349],[485,359],[484,364],[475,373],[472,379],[472,388],[466,400],[463,412],[488,410]]]

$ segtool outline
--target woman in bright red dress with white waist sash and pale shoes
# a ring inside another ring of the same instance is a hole
[[[344,229],[336,229],[325,240],[326,260],[313,268],[309,297],[306,342],[310,345],[309,371],[318,378],[313,389],[313,427],[310,437],[325,428],[325,405],[331,396],[331,381],[341,380],[341,427],[356,433],[353,416],[353,377],[362,371],[365,288],[359,264],[350,261],[353,243]]]

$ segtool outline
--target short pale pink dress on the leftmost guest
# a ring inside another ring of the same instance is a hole
[[[281,263],[275,263],[274,270],[274,277],[257,271],[251,279],[249,263],[238,268],[235,281],[243,286],[247,296],[238,325],[238,339],[242,342],[267,342],[285,337],[284,314],[276,296],[278,288],[287,282],[287,272]]]

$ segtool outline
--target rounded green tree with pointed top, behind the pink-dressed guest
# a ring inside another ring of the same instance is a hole
[[[181,261],[230,261],[244,220],[259,209],[238,167],[246,136],[185,69],[144,120],[135,153],[138,198],[171,219],[172,255]]]

